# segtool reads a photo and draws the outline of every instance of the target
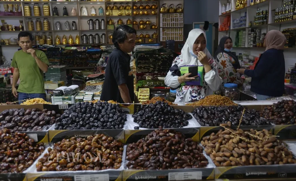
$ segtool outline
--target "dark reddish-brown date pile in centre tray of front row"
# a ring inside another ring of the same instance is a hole
[[[128,169],[203,168],[208,164],[202,146],[172,129],[155,130],[136,143],[128,144]]]

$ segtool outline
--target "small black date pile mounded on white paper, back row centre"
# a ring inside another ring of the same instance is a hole
[[[142,110],[133,114],[133,121],[138,123],[134,129],[148,128],[182,128],[188,125],[192,116],[183,110],[174,109],[166,102],[156,102],[142,107]]]

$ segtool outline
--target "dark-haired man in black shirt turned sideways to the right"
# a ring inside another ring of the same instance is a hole
[[[107,62],[101,100],[119,103],[133,103],[133,74],[130,68],[131,57],[128,53],[135,47],[136,30],[120,25],[113,32],[112,42],[115,49]]]

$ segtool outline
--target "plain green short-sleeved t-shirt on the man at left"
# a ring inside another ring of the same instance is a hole
[[[48,59],[41,50],[34,49],[37,57],[47,65]],[[44,74],[30,53],[23,50],[15,52],[12,58],[12,67],[18,68],[20,72],[20,85],[17,92],[28,94],[42,94],[44,90]]]

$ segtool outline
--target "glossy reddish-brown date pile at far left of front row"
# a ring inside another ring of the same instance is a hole
[[[44,143],[34,142],[26,133],[0,130],[0,173],[23,172],[44,151]]]

